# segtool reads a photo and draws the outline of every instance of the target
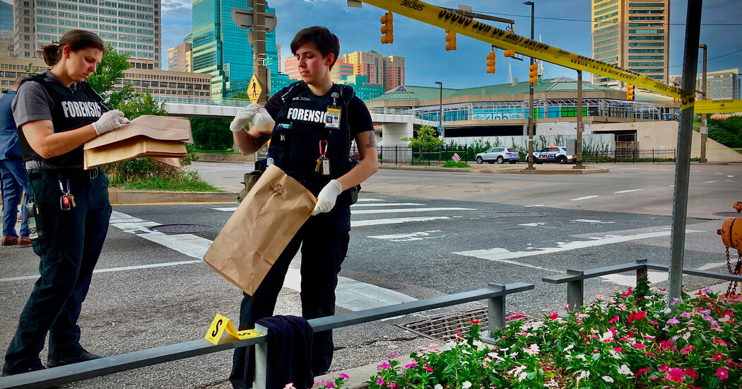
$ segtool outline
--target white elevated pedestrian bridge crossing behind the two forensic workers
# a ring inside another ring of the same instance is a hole
[[[249,105],[244,99],[211,99],[193,97],[154,97],[165,103],[165,111],[177,117],[228,117],[237,115],[240,108]],[[399,138],[413,137],[413,128],[429,125],[436,128],[438,122],[425,120],[407,108],[371,108],[371,120],[375,125],[381,125],[381,140],[384,146],[404,145]]]

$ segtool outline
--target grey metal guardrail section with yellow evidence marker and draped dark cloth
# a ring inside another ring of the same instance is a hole
[[[487,330],[491,332],[505,327],[505,297],[507,295],[532,290],[533,284],[516,282],[512,284],[492,284],[479,290],[461,292],[453,295],[442,295],[424,300],[410,301],[401,304],[389,305],[387,307],[372,308],[358,312],[344,313],[324,318],[313,318],[309,324],[315,332],[332,330],[334,328],[348,327],[354,324],[367,323],[382,318],[416,313],[424,310],[433,310],[451,305],[464,304],[470,301],[487,299],[489,317]],[[258,333],[266,334],[266,328],[260,325],[255,327]],[[209,353],[217,353],[237,347],[246,347],[255,344],[255,381],[252,388],[267,388],[266,382],[266,338],[253,338],[237,340],[224,336],[220,344],[211,344],[206,339],[197,339],[183,343],[170,344],[168,346],[151,348],[148,350],[134,351],[117,356],[108,356],[88,362],[80,362],[73,365],[53,367],[30,373],[18,374],[0,378],[0,388],[50,388],[56,385],[68,384],[70,382],[91,379],[97,376],[105,376],[139,367],[157,365],[164,362],[177,361],[178,359],[190,358]]]

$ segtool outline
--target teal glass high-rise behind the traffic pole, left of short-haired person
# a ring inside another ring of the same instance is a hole
[[[232,21],[232,8],[243,8],[245,4],[244,0],[197,0],[193,3],[193,71],[211,74],[212,97],[229,97],[240,90],[244,93],[252,77],[253,50],[248,30]],[[275,15],[275,10],[266,5],[267,13]],[[274,91],[278,88],[275,82],[282,79],[278,76],[275,31],[266,33],[266,58],[271,91]]]

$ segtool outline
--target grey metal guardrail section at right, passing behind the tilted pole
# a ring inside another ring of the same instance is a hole
[[[651,264],[646,259],[637,260],[634,263],[620,264],[608,267],[599,267],[597,269],[571,270],[566,273],[549,275],[541,278],[542,281],[549,284],[567,283],[567,304],[572,312],[578,312],[585,302],[585,280],[588,278],[600,277],[601,275],[617,274],[622,272],[637,272],[637,282],[640,278],[647,276],[647,270],[664,270],[668,271],[667,265]],[[723,274],[717,272],[706,272],[705,270],[683,269],[683,274],[698,275],[700,277],[715,278],[725,281],[742,282],[742,275]]]

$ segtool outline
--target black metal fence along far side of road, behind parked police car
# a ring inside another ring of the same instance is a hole
[[[392,165],[441,166],[453,161],[456,154],[461,162],[476,163],[476,154],[484,150],[472,146],[435,146],[415,148],[407,146],[380,146],[377,148],[378,162]],[[527,152],[520,152],[520,162],[525,162]],[[353,146],[352,154],[358,156]],[[674,162],[677,151],[674,148],[617,148],[614,150],[582,151],[583,163],[661,163]],[[490,162],[493,163],[493,162]]]

